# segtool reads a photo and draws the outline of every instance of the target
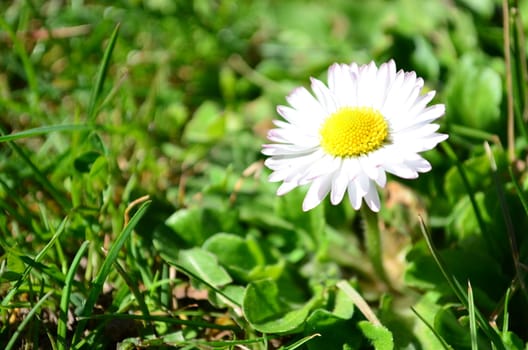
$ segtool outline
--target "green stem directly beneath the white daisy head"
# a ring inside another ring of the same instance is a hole
[[[385,272],[385,267],[383,266],[383,248],[378,214],[371,211],[367,206],[362,206],[360,210],[364,222],[365,246],[370,262],[374,268],[374,272],[390,287],[391,284]]]

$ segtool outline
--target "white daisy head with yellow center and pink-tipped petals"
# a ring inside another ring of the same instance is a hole
[[[336,205],[345,192],[354,209],[364,199],[379,211],[377,186],[385,186],[386,173],[414,179],[431,170],[419,153],[447,138],[431,123],[445,107],[427,107],[435,92],[421,94],[424,82],[415,72],[397,72],[392,60],[379,68],[334,64],[328,86],[311,82],[315,96],[299,87],[286,98],[290,106],[277,108],[285,120],[274,121],[268,133],[274,143],[263,146],[270,181],[282,181],[278,195],[311,183],[304,211],[328,193]]]

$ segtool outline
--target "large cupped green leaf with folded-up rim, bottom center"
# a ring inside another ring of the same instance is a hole
[[[267,279],[247,286],[242,308],[248,322],[259,332],[286,333],[301,327],[318,302],[317,298],[312,298],[300,308],[293,309],[281,298],[277,284]]]

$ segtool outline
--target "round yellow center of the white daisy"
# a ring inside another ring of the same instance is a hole
[[[388,141],[389,125],[370,107],[343,107],[326,119],[321,146],[336,157],[358,157],[379,149]]]

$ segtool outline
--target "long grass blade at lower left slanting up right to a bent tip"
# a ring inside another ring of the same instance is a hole
[[[114,266],[114,262],[117,260],[117,256],[119,254],[119,251],[125,244],[128,237],[130,237],[130,234],[134,230],[134,227],[136,227],[139,220],[143,217],[146,210],[148,209],[151,201],[145,202],[141,205],[141,207],[138,209],[138,211],[134,214],[132,219],[130,219],[130,222],[128,225],[125,226],[123,231],[117,236],[115,243],[112,245],[110,250],[108,251],[108,255],[106,256],[106,259],[103,261],[103,264],[101,265],[101,269],[99,270],[99,273],[97,276],[95,276],[93,282],[92,282],[92,288],[90,290],[90,294],[88,295],[88,298],[86,300],[86,303],[84,305],[83,311],[81,312],[80,316],[86,317],[91,312],[92,309],[97,301],[97,298],[99,294],[101,294],[101,291],[103,289],[104,281],[106,280],[106,277],[108,274],[112,271],[112,267]],[[86,327],[86,320],[81,320],[79,324],[77,325],[77,329],[75,330],[75,334],[73,336],[73,342],[72,346],[77,348],[77,342],[80,340],[81,334],[84,331],[84,328]]]

